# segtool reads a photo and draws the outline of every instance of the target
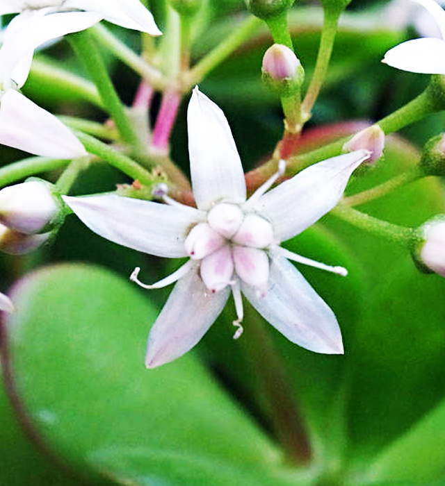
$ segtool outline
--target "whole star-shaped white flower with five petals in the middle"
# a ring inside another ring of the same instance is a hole
[[[196,208],[165,194],[168,204],[125,197],[64,197],[95,233],[168,258],[189,256],[174,274],[147,288],[177,284],[149,333],[147,367],[191,349],[232,291],[241,333],[241,292],[292,342],[318,353],[343,353],[332,310],[287,258],[346,274],[280,248],[339,201],[348,178],[369,152],[360,150],[305,169],[266,192],[284,167],[246,201],[241,160],[223,112],[195,88],[188,106],[188,149]],[[162,190],[161,190],[162,192]],[[264,194],[266,192],[266,194]]]

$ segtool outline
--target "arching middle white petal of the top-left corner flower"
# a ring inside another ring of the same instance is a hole
[[[95,12],[63,12],[44,15],[48,9],[26,15],[24,22],[8,34],[0,49],[0,76],[3,83],[13,78],[19,87],[24,85],[31,68],[29,60],[40,44],[62,35],[83,31],[97,24],[102,17]],[[21,16],[21,15],[20,15]],[[16,21],[17,24],[18,21]]]

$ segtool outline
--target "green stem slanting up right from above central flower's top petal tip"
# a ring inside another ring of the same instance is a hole
[[[236,26],[231,35],[226,37],[223,42],[218,44],[218,46],[207,54],[207,56],[202,58],[200,62],[197,62],[195,67],[184,76],[186,78],[184,91],[191,90],[193,86],[200,83],[204,76],[229,57],[233,51],[241,46],[241,44],[252,37],[252,34],[261,26],[261,24],[262,21],[257,17],[248,17],[241,26]]]

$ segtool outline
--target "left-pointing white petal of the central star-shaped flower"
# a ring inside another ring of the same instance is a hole
[[[63,200],[90,230],[112,242],[167,258],[187,255],[184,240],[202,213],[116,195]]]

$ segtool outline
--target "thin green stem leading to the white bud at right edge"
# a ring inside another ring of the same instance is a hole
[[[364,212],[345,206],[343,203],[340,203],[334,208],[331,214],[344,221],[348,221],[348,223],[357,226],[357,228],[368,231],[375,236],[384,237],[402,246],[407,246],[410,240],[412,240],[414,231],[412,228],[405,228],[397,224],[389,223],[388,221],[382,221],[381,219],[366,215]]]

